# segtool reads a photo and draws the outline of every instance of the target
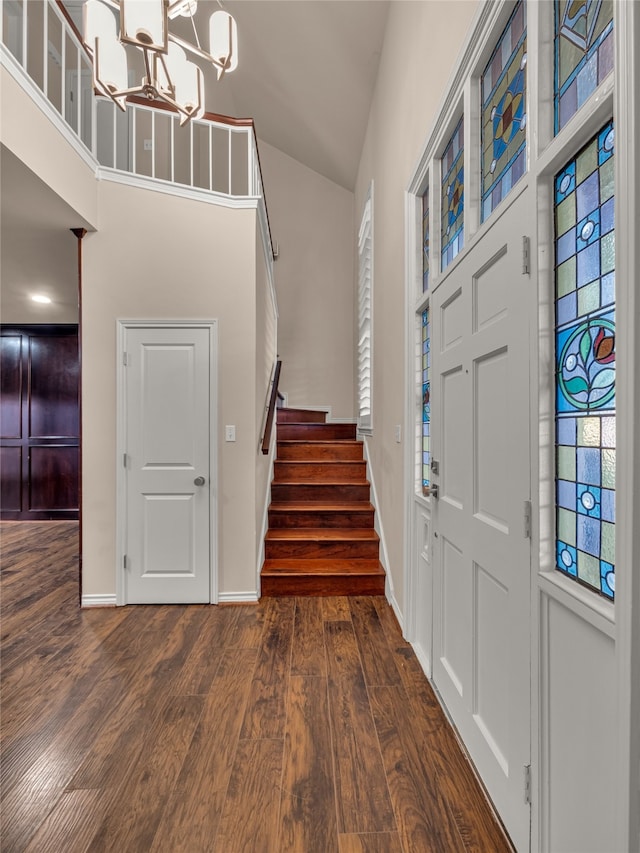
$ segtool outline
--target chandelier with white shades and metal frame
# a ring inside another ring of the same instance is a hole
[[[93,58],[95,88],[122,110],[128,95],[142,95],[178,110],[181,126],[200,118],[204,78],[187,52],[211,63],[220,79],[237,67],[238,48],[236,22],[223,9],[209,18],[209,51],[202,48],[194,20],[197,5],[197,0],[87,0],[83,41]],[[119,12],[119,32],[112,9]],[[178,16],[191,19],[194,44],[169,31],[170,21]],[[144,77],[138,86],[129,86],[124,45],[142,53]]]

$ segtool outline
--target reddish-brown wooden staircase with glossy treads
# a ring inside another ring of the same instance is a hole
[[[262,595],[384,595],[356,425],[277,410]]]

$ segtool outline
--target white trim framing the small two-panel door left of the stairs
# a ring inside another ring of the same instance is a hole
[[[218,321],[217,320],[149,320],[129,319],[116,320],[116,605],[126,604],[124,556],[127,539],[127,499],[126,472],[124,454],[126,451],[126,396],[125,396],[125,363],[124,353],[127,331],[132,329],[208,329],[210,335],[210,370],[209,370],[209,490],[210,490],[210,521],[209,521],[209,566],[210,566],[210,604],[218,603]]]

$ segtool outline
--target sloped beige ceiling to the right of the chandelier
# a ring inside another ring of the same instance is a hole
[[[239,63],[208,97],[228,86],[259,139],[353,189],[387,0],[225,0],[224,8],[238,24]]]

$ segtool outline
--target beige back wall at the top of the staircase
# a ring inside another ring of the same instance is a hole
[[[353,418],[353,194],[260,142],[278,295],[280,388]]]

